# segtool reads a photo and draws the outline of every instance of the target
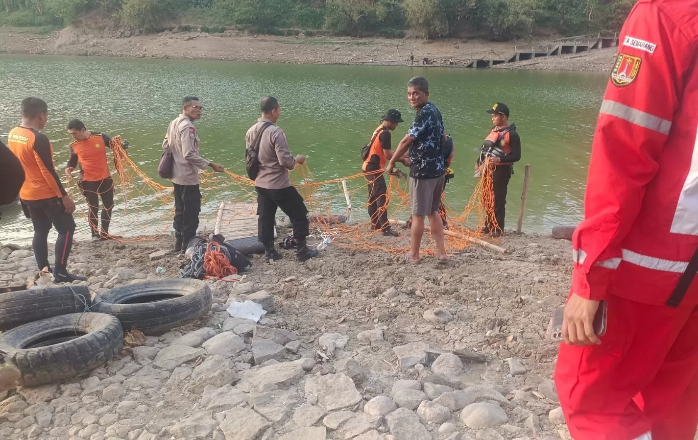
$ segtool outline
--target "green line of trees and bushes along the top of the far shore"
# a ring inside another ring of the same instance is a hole
[[[184,23],[260,34],[401,38],[483,36],[507,41],[620,29],[635,0],[0,0],[0,26],[65,26],[98,14],[155,32]]]

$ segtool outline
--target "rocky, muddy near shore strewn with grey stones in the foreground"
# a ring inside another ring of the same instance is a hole
[[[0,395],[0,438],[568,439],[545,329],[570,284],[570,244],[498,244],[509,252],[470,247],[449,265],[335,244],[307,263],[254,258],[237,281],[207,281],[205,318],[89,376]],[[169,246],[81,242],[69,267],[101,293],[177,277]],[[0,245],[0,286],[34,274],[30,249]],[[259,322],[225,311],[248,299],[268,312]]]

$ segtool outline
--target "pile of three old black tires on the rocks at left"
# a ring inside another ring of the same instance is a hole
[[[198,279],[129,284],[102,295],[87,286],[0,293],[0,362],[20,370],[22,386],[78,376],[114,358],[124,331],[161,335],[206,314],[211,299]]]

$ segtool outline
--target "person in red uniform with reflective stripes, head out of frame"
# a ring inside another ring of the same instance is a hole
[[[640,0],[621,31],[572,237],[555,379],[576,440],[695,435],[697,63],[698,1]]]

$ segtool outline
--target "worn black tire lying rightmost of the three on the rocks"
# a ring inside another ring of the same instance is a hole
[[[175,294],[177,298],[124,304],[134,298]],[[161,335],[211,310],[211,289],[198,279],[164,279],[113,288],[94,299],[92,311],[119,318],[124,330],[138,328],[145,335]]]

